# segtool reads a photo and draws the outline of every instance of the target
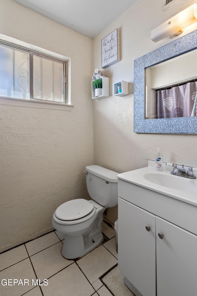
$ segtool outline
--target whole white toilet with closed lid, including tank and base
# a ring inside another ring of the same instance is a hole
[[[92,198],[73,199],[60,205],[53,214],[53,227],[65,233],[62,255],[82,257],[103,240],[103,212],[118,204],[118,173],[99,166],[86,167],[86,185]]]

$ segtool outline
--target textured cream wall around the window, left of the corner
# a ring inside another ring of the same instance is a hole
[[[92,40],[11,0],[0,0],[0,33],[71,59],[68,111],[0,105],[0,251],[52,227],[63,202],[87,198],[93,164]]]

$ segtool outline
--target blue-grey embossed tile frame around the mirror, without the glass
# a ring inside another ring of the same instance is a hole
[[[197,48],[197,30],[134,60],[134,132],[197,134],[197,117],[144,119],[145,68]]]

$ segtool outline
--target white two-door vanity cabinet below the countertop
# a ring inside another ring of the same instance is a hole
[[[118,267],[126,285],[136,296],[196,296],[197,207],[118,184]]]

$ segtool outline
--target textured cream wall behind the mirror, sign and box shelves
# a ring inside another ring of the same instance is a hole
[[[101,40],[116,28],[120,29],[121,61],[103,69],[110,78],[110,97],[94,101],[94,164],[119,173],[131,171],[146,166],[147,159],[154,160],[156,147],[161,147],[165,162],[197,166],[197,135],[133,132],[134,60],[169,43],[168,39],[154,43],[151,29],[193,3],[195,1],[178,0],[164,11],[162,0],[138,0],[94,38],[93,70],[101,68]],[[194,24],[185,29],[182,35],[196,28],[197,24]],[[130,82],[130,94],[114,97],[113,83],[120,80]],[[117,207],[107,209],[107,219],[111,222],[117,219]]]

